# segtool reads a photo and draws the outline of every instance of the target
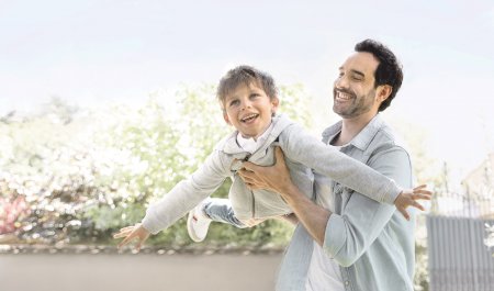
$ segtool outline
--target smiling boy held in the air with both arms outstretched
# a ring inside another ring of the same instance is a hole
[[[266,72],[249,66],[229,70],[220,81],[217,98],[224,120],[236,131],[220,142],[189,179],[150,205],[141,224],[124,227],[115,234],[115,238],[125,237],[119,247],[137,237],[136,248],[141,248],[150,233],[167,228],[197,205],[188,222],[189,233],[197,242],[204,239],[212,217],[244,227],[291,214],[278,193],[249,190],[236,175],[242,160],[272,165],[276,146],[285,154],[293,182],[305,193],[313,193],[312,170],[315,170],[373,200],[394,203],[404,215],[409,205],[422,209],[416,199],[429,198],[430,192],[424,187],[402,190],[381,174],[308,135],[284,115],[276,115],[279,107],[277,87]],[[228,195],[232,204],[221,204],[225,200],[207,200],[227,177],[233,178]],[[222,214],[214,210],[215,206],[228,213]],[[205,213],[207,209],[212,210],[210,214]]]

